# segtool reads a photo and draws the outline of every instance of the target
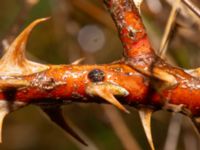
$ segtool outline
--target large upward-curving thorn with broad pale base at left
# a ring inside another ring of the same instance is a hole
[[[46,65],[28,61],[25,57],[26,44],[31,31],[37,24],[46,21],[47,19],[49,18],[33,21],[12,42],[0,60],[0,75],[28,75],[48,68]]]

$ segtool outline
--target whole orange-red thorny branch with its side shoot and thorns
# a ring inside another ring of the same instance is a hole
[[[151,47],[138,9],[132,0],[104,0],[124,47],[122,60],[105,65],[43,65],[25,57],[31,23],[0,60],[0,119],[28,104],[41,107],[52,121],[87,145],[64,121],[64,104],[108,102],[125,112],[122,104],[139,109],[151,148],[150,118],[167,109],[200,116],[200,72],[173,67]],[[116,99],[118,98],[118,100]],[[53,112],[53,113],[52,113]]]

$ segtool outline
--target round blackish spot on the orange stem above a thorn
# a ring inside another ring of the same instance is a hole
[[[105,74],[100,69],[94,69],[94,70],[92,70],[92,71],[89,72],[88,78],[92,82],[101,82],[101,81],[104,80]]]

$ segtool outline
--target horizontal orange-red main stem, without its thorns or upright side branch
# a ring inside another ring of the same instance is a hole
[[[99,69],[104,73],[103,82],[120,85],[129,92],[128,96],[120,99],[124,104],[150,106],[155,109],[168,106],[168,104],[184,105],[192,115],[200,115],[200,89],[196,87],[198,80],[194,77],[179,74],[176,77],[178,80],[176,86],[159,93],[150,86],[149,78],[123,64],[50,66],[50,69],[46,71],[17,77],[19,80],[28,81],[29,85],[10,90],[10,92],[0,92],[0,99],[9,100],[9,95],[12,95],[14,98],[12,100],[44,106],[68,102],[101,103],[102,99],[94,99],[85,92],[87,85],[93,82],[88,78],[88,74],[94,69]]]

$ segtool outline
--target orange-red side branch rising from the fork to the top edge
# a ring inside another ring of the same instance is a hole
[[[104,3],[118,28],[125,57],[131,58],[135,68],[149,68],[156,56],[133,0],[104,0]]]

